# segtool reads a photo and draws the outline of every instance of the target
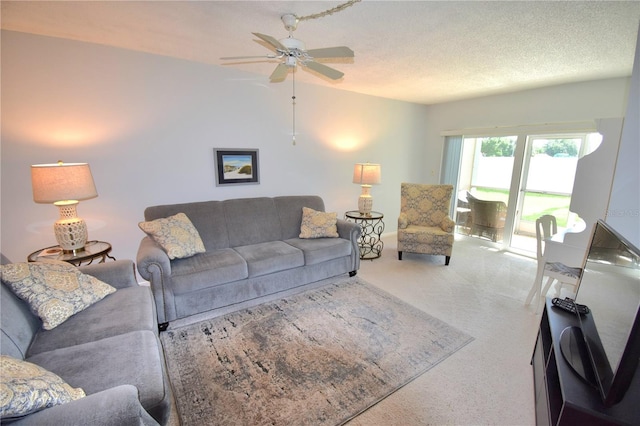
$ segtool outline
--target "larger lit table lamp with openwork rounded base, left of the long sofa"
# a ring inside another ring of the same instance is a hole
[[[54,225],[58,245],[66,253],[84,250],[87,224],[78,217],[79,201],[98,196],[91,169],[87,163],[37,164],[31,166],[33,201],[53,203],[60,209]]]

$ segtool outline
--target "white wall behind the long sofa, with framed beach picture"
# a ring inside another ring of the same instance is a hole
[[[13,261],[56,243],[58,209],[33,202],[31,164],[88,162],[99,196],[78,214],[90,239],[130,259],[149,205],[318,194],[342,217],[360,194],[353,164],[370,161],[382,164],[374,209],[393,231],[400,183],[427,179],[423,105],[296,84],[293,146],[290,80],[266,71],[16,32],[1,42],[0,248]],[[259,149],[260,184],[216,187],[214,147]]]

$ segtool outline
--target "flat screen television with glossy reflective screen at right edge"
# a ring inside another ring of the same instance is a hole
[[[601,220],[594,226],[576,303],[587,305],[592,319],[578,315],[588,355],[584,361],[591,363],[587,380],[605,406],[615,405],[640,358],[640,250]]]

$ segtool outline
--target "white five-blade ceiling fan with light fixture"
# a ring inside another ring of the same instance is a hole
[[[316,62],[316,59],[334,59],[334,58],[353,58],[353,50],[346,46],[337,47],[325,47],[321,49],[309,49],[306,50],[304,42],[293,38],[293,32],[298,27],[298,17],[293,14],[285,14],[281,17],[284,28],[289,31],[289,37],[277,40],[274,37],[266,34],[252,33],[256,37],[260,38],[269,46],[275,50],[275,54],[266,56],[234,56],[220,58],[222,60],[229,59],[253,59],[253,58],[267,58],[267,59],[282,59],[276,69],[271,73],[269,80],[272,83],[279,83],[287,78],[289,68],[295,68],[300,64],[303,67],[309,68],[331,80],[339,80],[344,75],[343,72],[334,68],[328,67],[324,64]],[[295,70],[294,70],[295,71]]]

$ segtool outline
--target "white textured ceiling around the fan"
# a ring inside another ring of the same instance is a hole
[[[275,63],[252,32],[284,38],[280,16],[344,1],[2,1],[2,28],[233,67],[268,81]],[[631,75],[640,2],[372,1],[304,20],[308,49],[346,45],[331,82],[298,81],[423,104]],[[273,83],[284,84],[284,83]]]

